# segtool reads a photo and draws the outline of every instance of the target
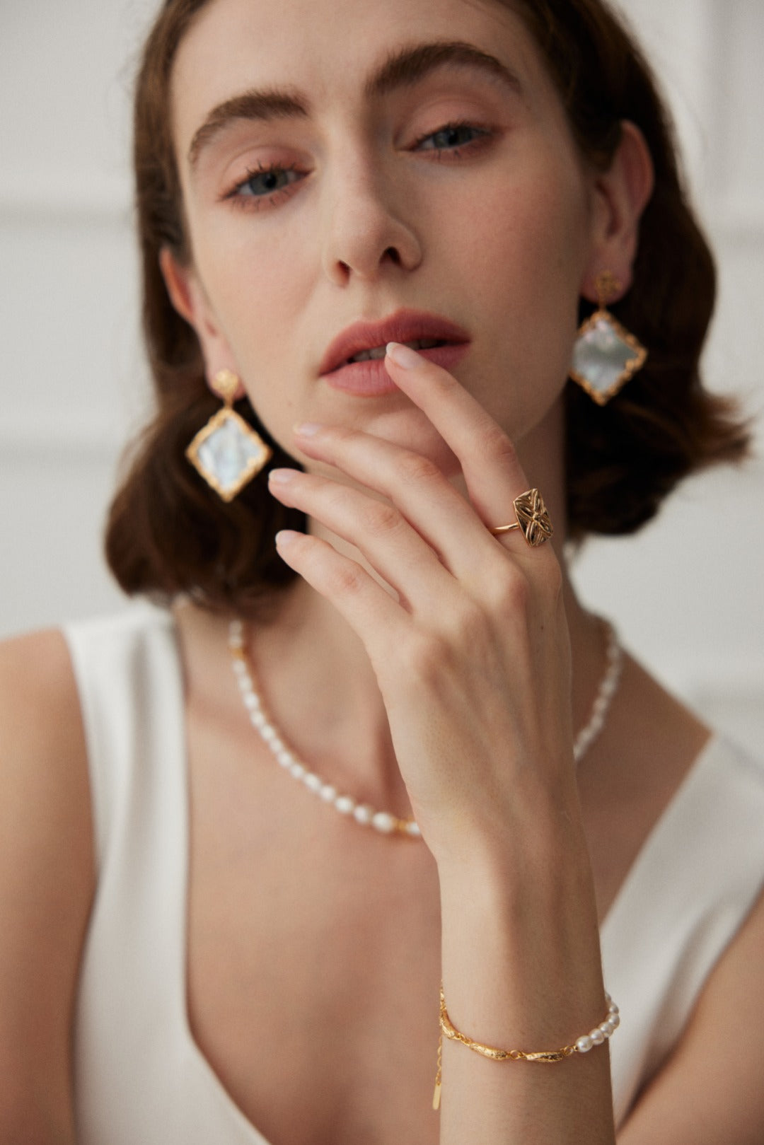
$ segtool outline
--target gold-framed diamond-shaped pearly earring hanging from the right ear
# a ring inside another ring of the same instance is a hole
[[[647,360],[647,350],[613,317],[607,303],[621,283],[609,270],[597,276],[598,308],[578,330],[570,377],[598,405],[606,405]]]

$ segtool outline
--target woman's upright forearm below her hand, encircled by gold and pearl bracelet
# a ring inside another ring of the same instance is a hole
[[[604,1020],[577,831],[542,831],[526,845],[514,837],[439,870],[443,989],[457,1029],[502,1049],[557,1050]],[[612,1145],[607,1044],[545,1064],[489,1060],[443,1037],[440,1118],[441,1145]]]

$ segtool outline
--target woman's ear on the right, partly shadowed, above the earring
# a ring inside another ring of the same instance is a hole
[[[592,212],[592,244],[581,293],[597,299],[597,277],[609,270],[621,284],[622,298],[632,282],[633,261],[639,242],[639,220],[655,184],[655,172],[645,136],[623,120],[622,135],[607,171],[596,175]]]

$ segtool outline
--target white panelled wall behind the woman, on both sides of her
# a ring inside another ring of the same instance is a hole
[[[0,5],[0,633],[123,607],[100,558],[141,420],[129,227],[132,58],[156,0]],[[664,78],[720,261],[712,388],[764,398],[764,6],[624,0]],[[717,724],[764,743],[764,464],[686,484],[576,578]]]

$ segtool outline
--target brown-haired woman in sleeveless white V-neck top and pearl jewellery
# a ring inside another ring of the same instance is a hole
[[[596,0],[170,0],[135,157],[159,412],[108,552],[173,607],[2,652],[3,1139],[761,1139],[762,771],[560,545],[745,449],[633,46]]]

